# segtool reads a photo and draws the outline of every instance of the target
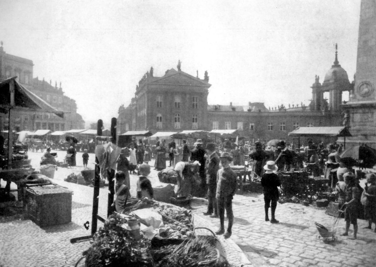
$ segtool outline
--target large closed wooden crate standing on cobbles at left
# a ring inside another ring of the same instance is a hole
[[[72,193],[60,186],[26,189],[27,215],[40,227],[71,222]]]

